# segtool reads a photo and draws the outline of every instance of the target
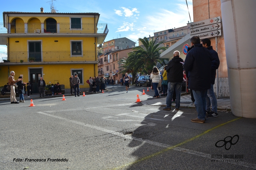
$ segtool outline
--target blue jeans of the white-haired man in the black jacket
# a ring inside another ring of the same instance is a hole
[[[166,97],[166,107],[172,106],[172,94],[175,88],[176,92],[176,101],[175,101],[175,108],[180,108],[180,93],[181,93],[181,84],[182,82],[168,82],[168,92]]]

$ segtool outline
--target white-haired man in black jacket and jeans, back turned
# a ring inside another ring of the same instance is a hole
[[[174,51],[172,60],[165,67],[168,80],[168,93],[166,97],[166,107],[164,110],[171,110],[172,106],[172,94],[175,89],[176,92],[176,104],[175,110],[180,109],[180,93],[181,93],[181,84],[183,82],[183,60],[180,58],[180,52]]]

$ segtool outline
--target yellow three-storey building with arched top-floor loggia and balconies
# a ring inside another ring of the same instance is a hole
[[[10,71],[15,79],[31,81],[38,92],[37,81],[59,82],[70,91],[69,78],[80,78],[80,89],[89,88],[86,80],[98,75],[97,45],[105,40],[107,24],[98,24],[99,13],[3,12],[0,45],[0,82],[6,84]],[[1,86],[1,85],[0,85]],[[82,91],[81,90],[81,91]]]

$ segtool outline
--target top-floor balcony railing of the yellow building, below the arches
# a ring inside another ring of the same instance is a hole
[[[108,25],[70,23],[0,23],[0,33],[108,33]]]

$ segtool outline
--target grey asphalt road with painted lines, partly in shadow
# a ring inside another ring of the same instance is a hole
[[[154,100],[145,87],[108,89],[35,107],[0,101],[0,169],[256,169],[256,119],[221,112],[193,123],[193,108],[136,103]]]

